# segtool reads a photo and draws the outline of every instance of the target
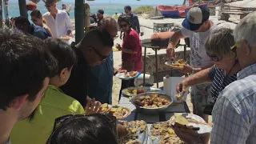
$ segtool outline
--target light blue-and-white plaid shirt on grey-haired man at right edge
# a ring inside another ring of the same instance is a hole
[[[218,96],[213,110],[211,143],[256,142],[256,64],[238,72]]]

